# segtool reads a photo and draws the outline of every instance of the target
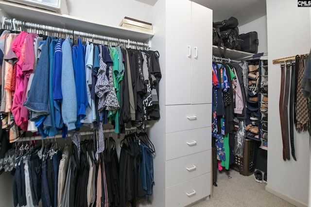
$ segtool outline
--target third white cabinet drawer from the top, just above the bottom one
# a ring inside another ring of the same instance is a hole
[[[211,151],[203,151],[165,162],[165,187],[171,187],[210,172]]]

